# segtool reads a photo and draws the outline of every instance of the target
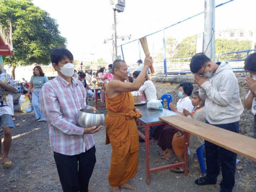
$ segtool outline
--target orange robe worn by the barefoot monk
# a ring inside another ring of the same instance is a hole
[[[138,169],[139,136],[134,119],[134,100],[131,92],[108,98],[106,95],[106,144],[111,143],[109,184],[120,186],[131,180]]]

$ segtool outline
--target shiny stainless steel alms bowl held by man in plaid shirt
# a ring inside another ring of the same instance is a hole
[[[102,111],[94,113],[92,109],[81,109],[76,115],[76,121],[84,128],[99,127],[104,125],[105,115]]]

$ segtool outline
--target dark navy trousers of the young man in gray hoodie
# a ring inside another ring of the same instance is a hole
[[[209,122],[207,121],[206,123],[209,124]],[[215,126],[239,133],[239,121],[227,124],[218,124]],[[237,154],[218,145],[210,143],[206,140],[205,154],[207,165],[207,175],[205,176],[205,180],[213,183],[217,182],[217,177],[220,174],[221,170],[221,191],[232,192],[235,185]]]

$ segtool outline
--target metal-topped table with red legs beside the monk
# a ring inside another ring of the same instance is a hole
[[[145,140],[145,146],[146,146],[146,151],[145,151],[145,155],[146,155],[146,183],[147,185],[150,185],[150,173],[152,172],[157,172],[157,171],[162,171],[165,169],[171,169],[174,167],[181,167],[183,165],[185,165],[185,169],[184,169],[184,175],[188,175],[188,136],[187,133],[184,132],[184,145],[185,145],[185,161],[183,162],[179,162],[179,163],[173,163],[173,164],[169,164],[169,165],[165,165],[165,166],[160,166],[160,167],[154,167],[154,168],[150,168],[150,154],[149,154],[149,128],[151,126],[154,125],[167,125],[166,122],[161,121],[158,117],[159,116],[173,116],[173,115],[177,115],[177,113],[169,111],[167,109],[163,109],[163,110],[154,110],[154,109],[148,109],[147,105],[139,105],[136,106],[137,108],[140,109],[140,111],[142,111],[143,116],[140,117],[139,119],[137,119],[137,122],[140,122],[142,125],[145,126],[145,135],[140,132],[138,130],[138,133],[140,135],[141,138],[143,138],[143,140]],[[176,128],[177,131],[181,131],[182,130]]]

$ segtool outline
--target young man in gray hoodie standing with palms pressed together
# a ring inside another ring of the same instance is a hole
[[[191,59],[190,70],[200,87],[199,96],[205,100],[206,123],[239,133],[239,119],[244,108],[229,62],[214,63],[206,55],[197,54]],[[232,192],[237,155],[208,141],[205,141],[205,151],[207,175],[195,180],[195,184],[216,184],[221,168],[221,192]]]

